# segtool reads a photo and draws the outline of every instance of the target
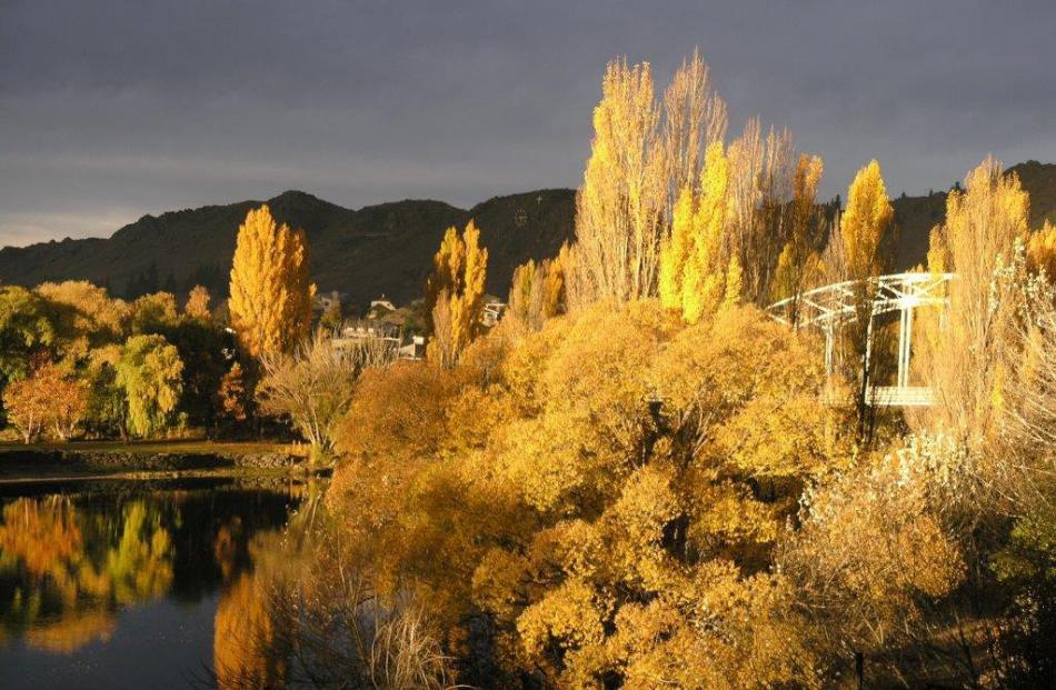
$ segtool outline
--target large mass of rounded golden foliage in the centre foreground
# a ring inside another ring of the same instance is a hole
[[[365,376],[331,501],[382,592],[452,629],[488,612],[510,673],[809,681],[787,583],[751,573],[847,454],[810,347],[733,304],[691,327],[648,301],[500,329],[454,369]]]

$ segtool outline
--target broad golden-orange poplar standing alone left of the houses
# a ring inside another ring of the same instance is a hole
[[[231,266],[231,326],[252,357],[289,352],[308,336],[316,286],[303,230],[279,226],[267,204],[238,231]]]

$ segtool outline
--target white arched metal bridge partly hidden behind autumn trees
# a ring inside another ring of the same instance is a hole
[[[849,280],[808,290],[767,307],[767,313],[793,328],[814,328],[825,336],[825,373],[833,374],[836,332],[858,319],[856,302],[863,292],[873,293],[873,307],[866,328],[866,361],[873,349],[873,320],[899,312],[898,372],[895,386],[869,386],[868,404],[878,407],[929,406],[932,389],[909,384],[909,356],[913,344],[913,312],[917,307],[944,308],[948,303],[946,283],[954,273],[893,273],[870,279],[869,290]]]

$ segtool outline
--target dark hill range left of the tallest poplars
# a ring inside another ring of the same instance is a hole
[[[109,239],[63,240],[0,250],[0,280],[36,286],[90,280],[118,296],[196,283],[226,294],[238,227],[261,201],[145,216]],[[363,303],[385,293],[398,302],[421,293],[447,228],[475,218],[490,253],[487,289],[505,296],[514,267],[556,254],[571,237],[575,192],[540,190],[496,197],[464,210],[440,201],[398,201],[358,211],[287,191],[267,203],[280,222],[308,236],[312,280],[322,291]]]

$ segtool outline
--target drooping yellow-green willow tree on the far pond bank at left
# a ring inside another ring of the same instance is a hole
[[[179,352],[163,337],[128,339],[117,366],[117,383],[124,390],[129,431],[147,437],[172,422],[182,373]]]

